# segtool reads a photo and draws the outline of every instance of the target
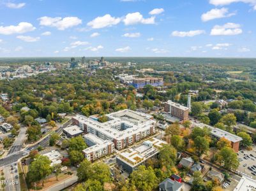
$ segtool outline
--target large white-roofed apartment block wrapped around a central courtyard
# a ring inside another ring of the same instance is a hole
[[[145,113],[121,110],[107,114],[106,117],[108,121],[103,123],[83,115],[77,115],[72,120],[82,131],[103,140],[113,141],[117,150],[156,132],[156,121]]]

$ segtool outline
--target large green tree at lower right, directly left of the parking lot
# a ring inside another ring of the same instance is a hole
[[[236,152],[232,148],[227,146],[223,147],[217,154],[216,159],[220,164],[227,169],[237,169],[239,166],[239,161],[237,159]]]

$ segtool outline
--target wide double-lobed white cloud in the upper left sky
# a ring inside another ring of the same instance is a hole
[[[38,20],[40,25],[56,27],[60,31],[82,24],[82,20],[78,17],[40,17]]]

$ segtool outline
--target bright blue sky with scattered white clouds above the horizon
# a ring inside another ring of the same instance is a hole
[[[0,0],[0,57],[256,57],[256,0]]]

